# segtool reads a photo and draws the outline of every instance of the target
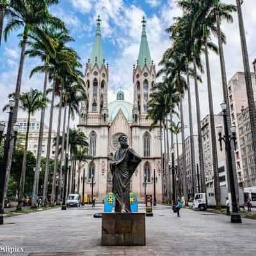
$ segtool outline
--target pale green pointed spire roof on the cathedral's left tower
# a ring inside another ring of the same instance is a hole
[[[101,34],[100,34],[100,15],[98,16],[97,19],[97,31],[93,43],[93,48],[92,48],[92,56],[91,56],[91,66],[92,68],[94,67],[96,63],[96,58],[97,58],[97,65],[99,68],[102,67],[103,64],[103,51],[102,51],[102,42],[101,42]]]

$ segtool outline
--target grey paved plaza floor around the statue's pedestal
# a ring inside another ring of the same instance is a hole
[[[22,248],[12,255],[256,255],[256,221],[230,223],[230,217],[182,209],[180,218],[170,207],[157,205],[146,218],[146,246],[100,246],[103,205],[60,208],[5,219],[0,248]],[[144,207],[140,205],[140,212]],[[0,252],[1,255],[11,255]]]

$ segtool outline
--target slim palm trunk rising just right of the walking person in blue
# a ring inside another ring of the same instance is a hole
[[[180,96],[180,124],[181,124],[181,141],[182,141],[182,167],[183,167],[183,193],[185,205],[188,205],[188,186],[186,177],[186,152],[185,152],[185,134],[184,134],[184,116],[183,116],[183,106],[182,106],[182,95]]]

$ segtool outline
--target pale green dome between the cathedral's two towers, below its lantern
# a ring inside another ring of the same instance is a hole
[[[113,122],[119,110],[122,110],[128,122],[132,122],[132,104],[125,100],[115,100],[108,104],[108,120]]]

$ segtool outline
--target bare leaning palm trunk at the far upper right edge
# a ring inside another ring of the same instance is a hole
[[[244,32],[244,22],[243,22],[243,14],[241,10],[240,0],[236,0],[237,5],[237,15],[238,15],[238,23],[241,37],[241,47],[243,53],[243,63],[244,63],[244,76],[245,76],[245,84],[246,84],[246,93],[248,99],[248,107],[250,114],[250,124],[251,124],[251,132],[252,132],[252,145],[253,145],[253,157],[254,163],[256,163],[256,108],[255,108],[255,99],[253,96],[253,87],[252,87],[252,77],[250,72],[248,51],[246,45],[246,37]]]

